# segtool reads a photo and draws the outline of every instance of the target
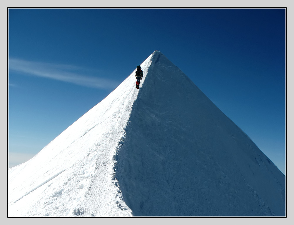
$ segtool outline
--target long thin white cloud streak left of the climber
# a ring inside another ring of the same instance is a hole
[[[110,79],[81,75],[85,73],[85,69],[71,65],[9,58],[9,70],[97,89],[114,89],[119,85],[117,81]]]

